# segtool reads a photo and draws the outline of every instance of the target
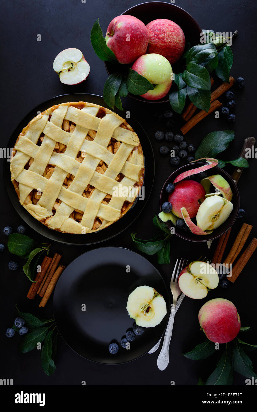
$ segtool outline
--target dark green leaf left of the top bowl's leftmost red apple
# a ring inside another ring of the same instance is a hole
[[[99,59],[104,61],[110,61],[111,63],[117,63],[115,54],[106,44],[105,38],[103,37],[103,32],[99,25],[99,19],[94,23],[91,34],[90,34],[91,44],[94,51],[96,52]]]

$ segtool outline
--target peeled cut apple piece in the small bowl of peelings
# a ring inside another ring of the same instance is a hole
[[[207,197],[198,209],[197,225],[202,230],[216,229],[225,222],[232,209],[233,204],[223,197],[217,195]]]

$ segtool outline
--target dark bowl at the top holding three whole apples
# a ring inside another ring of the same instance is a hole
[[[200,42],[200,33],[202,30],[196,20],[181,7],[175,6],[174,4],[159,1],[141,3],[126,10],[123,14],[137,17],[137,19],[141,20],[145,25],[156,19],[170,19],[182,28],[186,38],[186,43],[189,42],[191,47]],[[179,60],[177,63],[172,65],[173,73],[179,73],[182,70],[181,64],[181,60]],[[125,71],[131,66],[131,64],[123,65],[119,63],[113,64],[108,61],[105,62],[108,75],[121,70]],[[167,96],[164,96],[160,100],[146,100],[141,96],[135,96],[131,93],[129,93],[128,96],[146,103],[163,103],[169,101]]]

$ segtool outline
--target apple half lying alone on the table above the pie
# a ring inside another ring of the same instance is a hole
[[[65,49],[54,59],[53,69],[64,84],[84,82],[90,72],[90,66],[78,49]]]

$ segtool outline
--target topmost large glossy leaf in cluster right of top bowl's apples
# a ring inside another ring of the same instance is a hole
[[[207,65],[217,56],[217,49],[213,43],[202,43],[191,47],[186,55],[186,64],[197,63],[202,66]]]

